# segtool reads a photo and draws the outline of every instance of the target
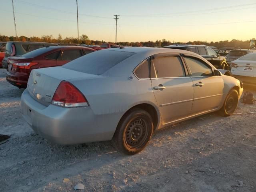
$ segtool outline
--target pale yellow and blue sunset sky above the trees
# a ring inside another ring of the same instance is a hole
[[[0,0],[0,35],[15,36],[12,1]],[[77,37],[76,0],[14,0],[17,35]],[[78,0],[79,34],[92,40],[220,41],[256,38],[255,0]]]

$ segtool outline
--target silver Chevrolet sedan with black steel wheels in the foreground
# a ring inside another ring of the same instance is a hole
[[[61,67],[32,70],[22,114],[58,144],[113,139],[140,152],[158,128],[213,111],[233,114],[242,83],[193,52],[112,48]]]

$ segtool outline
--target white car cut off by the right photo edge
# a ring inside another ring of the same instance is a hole
[[[232,61],[231,73],[244,84],[256,85],[256,53]]]

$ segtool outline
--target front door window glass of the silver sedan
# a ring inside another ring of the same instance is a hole
[[[212,68],[202,60],[194,57],[184,57],[192,77],[212,76]]]

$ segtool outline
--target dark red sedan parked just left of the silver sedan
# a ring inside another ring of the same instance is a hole
[[[82,46],[47,46],[22,56],[9,57],[6,80],[18,88],[26,88],[33,69],[62,66],[94,51]]]

